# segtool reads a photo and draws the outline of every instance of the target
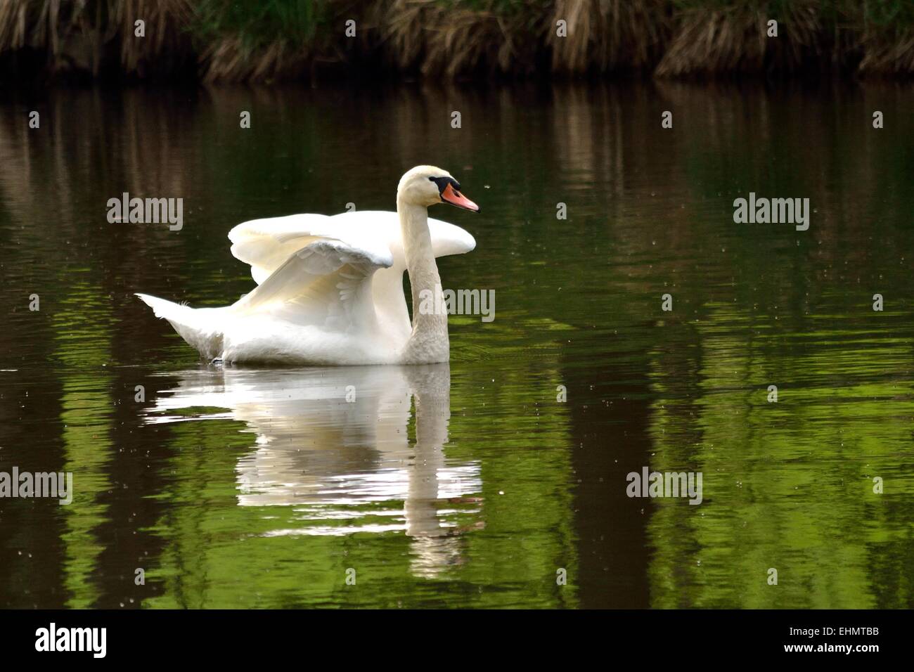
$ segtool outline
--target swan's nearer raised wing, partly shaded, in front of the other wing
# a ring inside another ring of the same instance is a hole
[[[315,238],[241,297],[232,313],[267,314],[295,325],[369,334],[377,329],[372,276],[392,264],[390,250],[383,244],[355,246]]]

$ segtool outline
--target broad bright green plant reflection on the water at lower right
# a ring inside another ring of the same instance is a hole
[[[753,321],[747,311],[714,306],[696,325],[701,347],[691,357],[654,358],[651,466],[702,472],[705,501],[658,507],[653,605],[912,603],[909,571],[871,566],[872,557],[904,557],[910,548],[907,526],[891,512],[914,496],[909,466],[898,461],[911,462],[902,457],[911,443],[902,419],[914,415],[914,385],[879,374],[909,361],[910,340],[868,331],[860,338],[848,328],[835,357],[822,344],[779,346],[781,337],[763,330],[747,343]],[[772,346],[776,360],[767,355]],[[696,372],[696,394],[676,383],[684,369]],[[769,403],[774,383],[779,400]],[[886,494],[873,493],[874,475],[892,484]],[[767,583],[770,568],[776,587]],[[884,582],[898,592],[880,594]]]

